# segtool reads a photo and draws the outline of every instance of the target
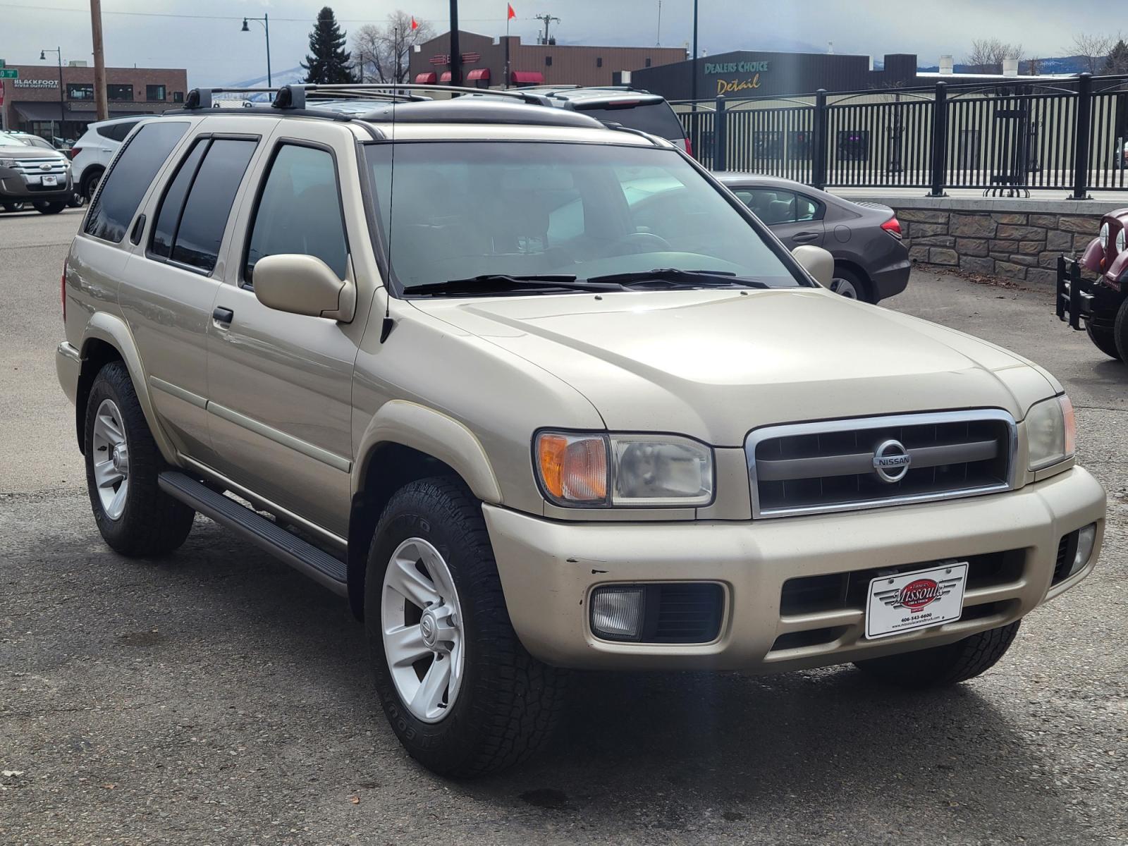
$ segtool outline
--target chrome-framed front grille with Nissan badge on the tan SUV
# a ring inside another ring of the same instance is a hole
[[[1006,491],[1016,446],[1014,418],[992,408],[756,429],[744,441],[752,514],[849,511]],[[879,455],[907,468],[879,468]]]

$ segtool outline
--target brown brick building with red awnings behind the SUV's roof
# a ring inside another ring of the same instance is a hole
[[[576,44],[522,44],[518,35],[497,38],[458,30],[462,83],[478,88],[528,85],[609,86],[616,72],[682,62],[682,47],[592,47]],[[509,73],[506,77],[506,61]],[[415,82],[450,81],[450,33],[415,47]]]

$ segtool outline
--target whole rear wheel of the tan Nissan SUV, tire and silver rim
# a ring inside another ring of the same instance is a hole
[[[94,378],[86,405],[86,484],[94,519],[111,548],[130,556],[176,549],[195,512],[160,490],[164,460],[120,361]]]

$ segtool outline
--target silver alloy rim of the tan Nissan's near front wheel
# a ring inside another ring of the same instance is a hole
[[[442,720],[462,682],[462,610],[447,562],[423,538],[408,538],[391,554],[384,574],[380,631],[400,700],[417,720]]]

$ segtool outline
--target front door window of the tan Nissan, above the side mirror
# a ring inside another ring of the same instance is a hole
[[[349,246],[333,156],[326,150],[284,144],[271,162],[255,210],[244,279],[255,262],[299,253],[325,262],[344,279]]]

